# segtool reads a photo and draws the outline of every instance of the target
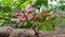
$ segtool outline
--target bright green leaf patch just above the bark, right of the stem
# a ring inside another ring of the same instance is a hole
[[[55,26],[55,21],[52,22],[44,22],[42,25],[39,27],[40,30],[53,30],[53,26]]]

